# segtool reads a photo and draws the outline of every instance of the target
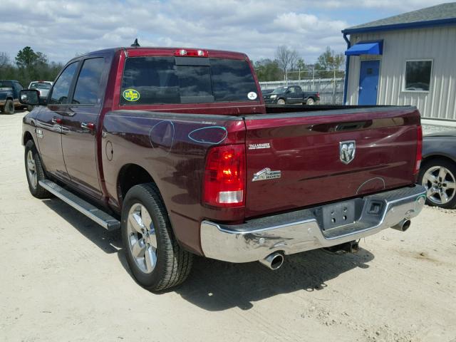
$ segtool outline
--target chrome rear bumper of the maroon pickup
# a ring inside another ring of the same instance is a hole
[[[425,204],[425,194],[424,187],[415,185],[353,199],[358,207],[355,222],[331,229],[324,229],[321,217],[315,214],[325,206],[252,219],[244,224],[203,221],[202,250],[212,259],[249,262],[277,251],[294,254],[343,244],[417,216]],[[380,203],[381,207],[375,214],[370,213],[373,203]]]

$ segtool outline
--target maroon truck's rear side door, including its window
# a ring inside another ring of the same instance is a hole
[[[96,132],[107,78],[107,73],[103,74],[105,62],[103,57],[82,61],[71,104],[62,118],[62,150],[68,175],[73,185],[96,199],[102,196]]]

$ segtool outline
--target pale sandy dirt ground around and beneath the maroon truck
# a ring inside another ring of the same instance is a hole
[[[259,263],[197,258],[179,288],[135,283],[120,237],[33,198],[23,113],[0,115],[0,341],[456,341],[456,211],[408,232]]]

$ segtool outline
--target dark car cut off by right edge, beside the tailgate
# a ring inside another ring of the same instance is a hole
[[[418,182],[426,190],[426,203],[456,208],[456,130],[423,138],[423,162]]]

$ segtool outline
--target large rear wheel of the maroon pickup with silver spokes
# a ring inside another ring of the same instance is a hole
[[[135,185],[128,190],[121,230],[128,266],[145,289],[162,291],[187,279],[193,255],[177,244],[155,185]]]

